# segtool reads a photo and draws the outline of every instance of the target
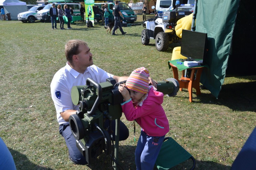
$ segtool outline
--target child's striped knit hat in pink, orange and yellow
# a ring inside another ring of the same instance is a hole
[[[145,67],[134,70],[128,77],[125,86],[133,91],[146,94],[148,93],[149,72]]]

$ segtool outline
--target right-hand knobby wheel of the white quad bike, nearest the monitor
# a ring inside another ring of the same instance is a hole
[[[165,32],[159,32],[156,36],[156,48],[158,51],[166,51],[169,47],[169,36]]]

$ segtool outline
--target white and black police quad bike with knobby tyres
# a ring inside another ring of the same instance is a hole
[[[148,45],[150,39],[155,40],[156,48],[158,51],[166,51],[169,43],[181,43],[175,33],[176,21],[191,14],[191,11],[168,11],[165,12],[162,18],[148,19],[143,22],[141,42],[143,45]]]

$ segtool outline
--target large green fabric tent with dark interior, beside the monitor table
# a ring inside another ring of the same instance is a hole
[[[256,1],[197,0],[195,31],[207,33],[208,45],[201,83],[217,98],[225,76],[256,75]]]

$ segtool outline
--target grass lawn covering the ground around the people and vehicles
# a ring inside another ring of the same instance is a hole
[[[140,21],[142,15],[138,15],[136,23]],[[127,34],[118,31],[117,36],[106,34],[103,26],[87,28],[79,23],[72,27],[52,30],[51,23],[0,21],[0,137],[11,151],[17,169],[98,170],[102,166],[104,154],[90,166],[73,165],[59,134],[50,83],[56,71],[66,64],[64,46],[68,40],[86,41],[94,64],[114,75],[129,76],[144,66],[156,81],[173,77],[167,62],[179,44],[170,44],[166,52],[158,52],[154,40],[143,46],[142,25],[125,27]],[[175,97],[164,97],[162,106],[170,124],[166,136],[194,156],[196,169],[230,169],[256,124],[255,87],[256,76],[228,77],[218,99],[208,90],[201,90],[200,96],[194,90],[190,103],[186,89]],[[134,170],[133,122],[124,116],[121,120],[130,136],[120,142],[120,165]],[[139,134],[137,125],[136,140]],[[109,161],[107,157],[103,169],[111,169]],[[185,162],[173,169],[187,166],[189,163]]]

